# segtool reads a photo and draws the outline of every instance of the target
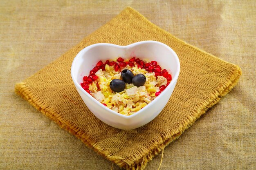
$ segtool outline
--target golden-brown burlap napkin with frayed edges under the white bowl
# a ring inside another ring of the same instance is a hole
[[[97,119],[77,93],[70,76],[72,60],[91,44],[143,40],[170,46],[180,58],[180,77],[168,104],[153,121],[135,130],[112,128]],[[137,170],[226,95],[240,75],[238,66],[186,44],[128,7],[52,64],[16,84],[16,93],[106,159]]]

